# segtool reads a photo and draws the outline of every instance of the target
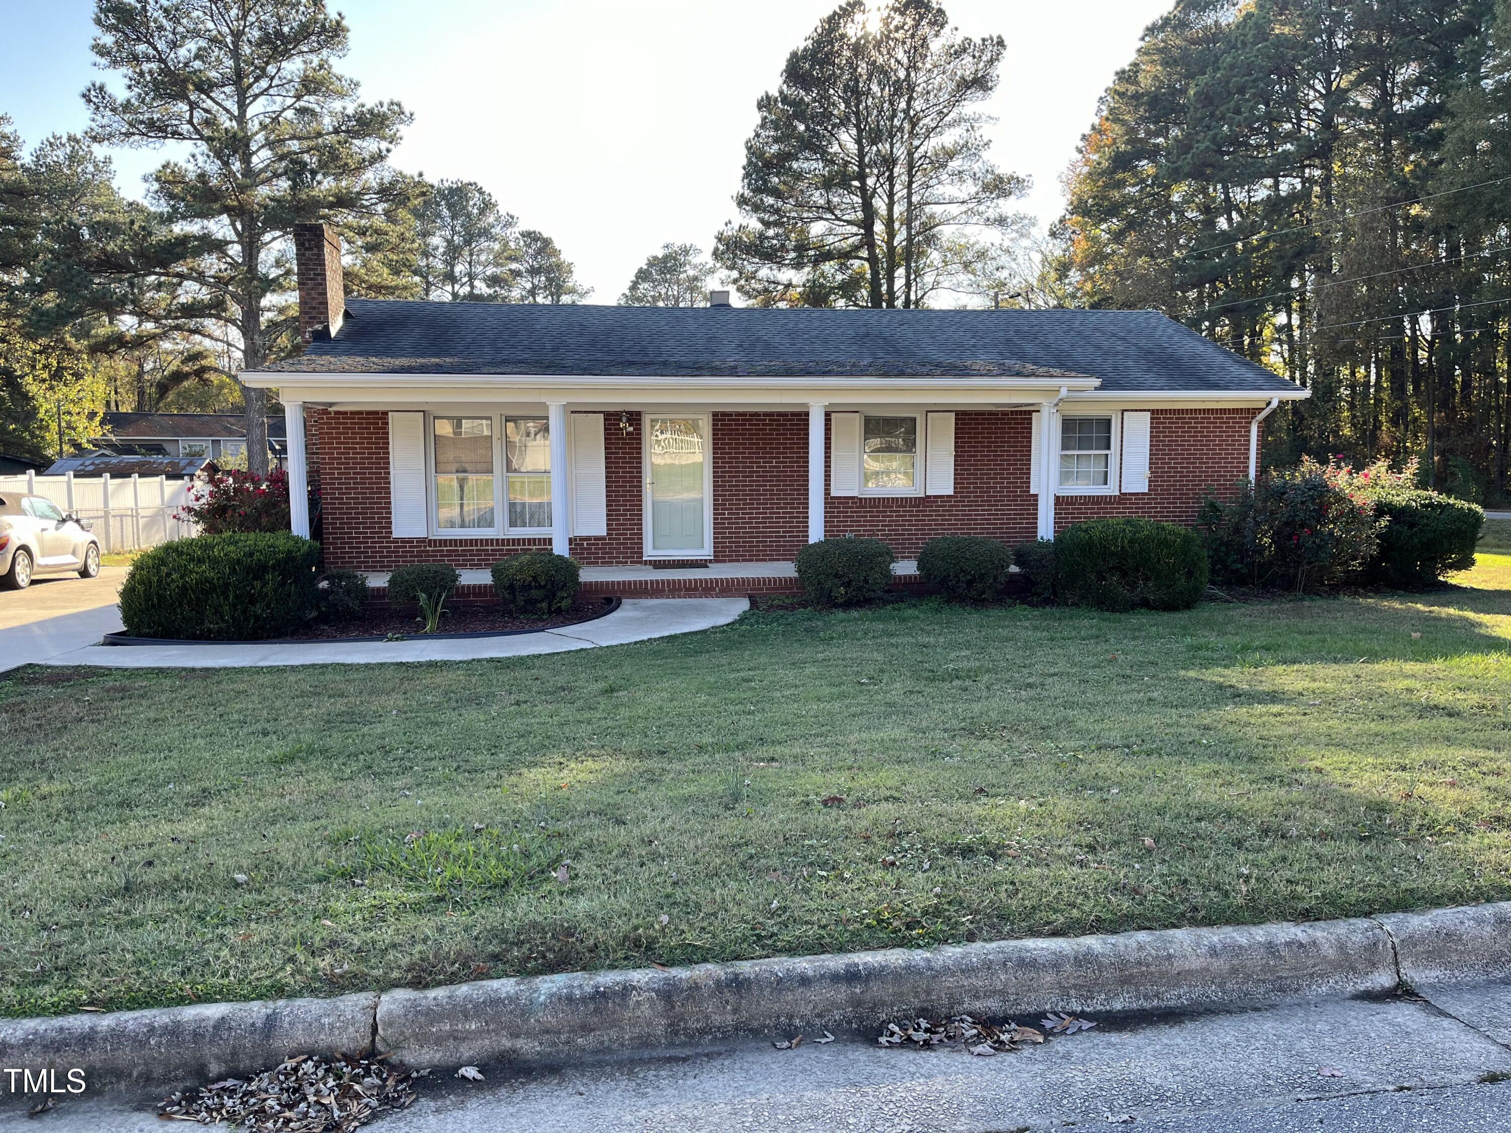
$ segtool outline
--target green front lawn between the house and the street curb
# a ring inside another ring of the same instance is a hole
[[[0,1012],[1511,897],[1506,559],[1176,615],[23,669]]]

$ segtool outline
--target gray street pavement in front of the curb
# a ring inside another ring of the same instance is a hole
[[[1126,1125],[1160,1133],[1502,1133],[1511,1128],[1511,985],[1454,993],[1481,1026],[1413,999],[1331,1000],[1163,1020],[1102,1020],[1094,1030],[996,1057],[881,1050],[867,1035],[585,1062],[471,1085],[435,1068],[422,1098],[372,1128],[795,1130],[1006,1133]],[[1490,1021],[1488,1026],[1485,1021]],[[633,1054],[633,1051],[627,1051]],[[27,1121],[0,1100],[0,1130],[162,1130],[151,1097],[65,1100]]]

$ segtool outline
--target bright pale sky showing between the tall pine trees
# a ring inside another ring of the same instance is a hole
[[[1059,215],[1059,175],[1097,98],[1173,0],[946,0],[967,35],[1008,41],[988,109],[999,166],[1034,178],[1024,208]],[[414,125],[394,163],[480,181],[556,239],[613,302],[668,240],[709,251],[733,218],[756,98],[837,0],[335,0],[343,69]],[[29,144],[80,130],[88,0],[0,0],[0,113]],[[6,44],[9,41],[9,45]],[[160,154],[116,154],[122,187]]]

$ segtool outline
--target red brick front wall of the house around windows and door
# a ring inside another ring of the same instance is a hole
[[[1154,409],[1150,491],[1132,495],[1061,495],[1056,530],[1105,515],[1147,515],[1191,523],[1207,486],[1231,488],[1248,473],[1254,409]],[[642,562],[644,421],[604,412],[607,535],[573,538],[585,565]],[[319,455],[325,557],[331,566],[390,570],[406,562],[487,568],[506,554],[548,548],[550,539],[394,539],[388,518],[388,415],[382,411],[308,411],[310,450]],[[955,414],[955,494],[825,497],[830,536],[887,539],[913,557],[935,535],[1034,538],[1038,502],[1029,492],[1032,415],[1024,411]],[[715,412],[713,551],[718,562],[790,560],[807,541],[808,415]],[[825,479],[830,462],[825,459]],[[828,483],[825,483],[825,491]]]

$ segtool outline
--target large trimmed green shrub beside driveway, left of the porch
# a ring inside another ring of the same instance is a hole
[[[199,535],[138,556],[121,586],[136,638],[264,641],[319,612],[320,544],[290,532]]]

